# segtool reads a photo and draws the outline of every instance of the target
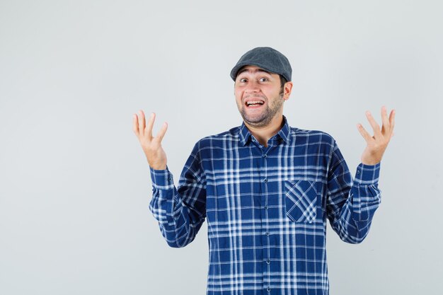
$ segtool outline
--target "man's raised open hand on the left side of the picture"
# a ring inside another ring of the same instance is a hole
[[[168,123],[164,122],[159,133],[156,137],[152,136],[152,127],[154,125],[156,114],[154,112],[151,114],[148,120],[148,125],[145,127],[146,121],[144,120],[144,112],[139,110],[139,116],[134,114],[132,116],[132,129],[135,135],[137,135],[140,144],[142,144],[142,149],[146,158],[148,160],[149,166],[155,170],[166,169],[166,153],[161,147],[161,140],[165,136],[166,129],[168,129]]]

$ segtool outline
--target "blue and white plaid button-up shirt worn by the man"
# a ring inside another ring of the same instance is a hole
[[[241,125],[195,144],[180,176],[151,168],[149,209],[171,247],[207,219],[207,294],[328,294],[326,219],[363,241],[380,203],[379,166],[352,180],[330,135],[289,127],[262,146]]]

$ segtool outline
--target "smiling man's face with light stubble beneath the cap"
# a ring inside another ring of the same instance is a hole
[[[238,71],[234,94],[238,111],[252,127],[264,127],[283,113],[284,95],[280,76],[258,66],[244,66]]]

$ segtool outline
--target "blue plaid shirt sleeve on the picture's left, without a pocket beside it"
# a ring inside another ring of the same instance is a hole
[[[168,245],[180,248],[192,242],[206,217],[206,180],[197,144],[180,175],[178,188],[166,170],[150,168],[152,199],[149,210],[159,221]]]

